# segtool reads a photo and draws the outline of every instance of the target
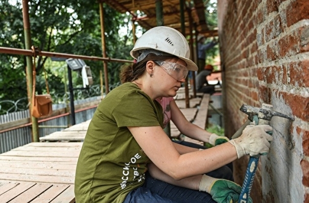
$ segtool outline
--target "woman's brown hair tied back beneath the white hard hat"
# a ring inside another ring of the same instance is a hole
[[[156,56],[155,54],[148,54],[145,59],[138,63],[133,63],[132,65],[124,65],[120,71],[120,80],[122,83],[133,82],[141,77],[146,70],[146,63],[148,61],[165,61],[168,59],[178,59],[178,57],[173,56]]]

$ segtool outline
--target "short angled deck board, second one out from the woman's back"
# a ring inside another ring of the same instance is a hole
[[[37,196],[31,203],[42,203],[42,202],[51,202],[55,199],[59,194],[65,191],[68,187],[72,187],[71,185],[53,185],[53,187],[49,188],[48,190],[44,191],[42,194]],[[75,198],[73,195],[72,198]],[[61,202],[62,200],[60,200]],[[64,202],[64,201],[62,201]],[[70,201],[66,201],[68,203]]]

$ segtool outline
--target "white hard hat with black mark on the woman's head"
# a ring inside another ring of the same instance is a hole
[[[190,48],[187,40],[174,28],[159,26],[148,30],[136,40],[130,55],[138,59],[138,51],[142,49],[154,49],[176,56],[186,62],[188,70],[198,70],[197,65],[189,59]]]

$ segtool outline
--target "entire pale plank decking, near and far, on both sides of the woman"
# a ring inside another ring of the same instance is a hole
[[[184,99],[176,100],[185,117],[202,128],[206,124],[208,102],[209,95],[193,98],[191,108],[186,109]],[[89,122],[0,154],[0,203],[75,202],[76,164]],[[172,135],[177,136],[180,132],[173,125]]]

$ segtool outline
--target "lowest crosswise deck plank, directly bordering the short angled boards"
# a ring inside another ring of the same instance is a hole
[[[74,174],[75,175],[75,174]],[[75,176],[56,176],[55,175],[28,175],[0,173],[0,180],[29,182],[29,183],[54,183],[54,184],[74,184]],[[0,196],[1,199],[1,196]]]

